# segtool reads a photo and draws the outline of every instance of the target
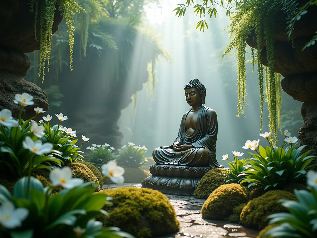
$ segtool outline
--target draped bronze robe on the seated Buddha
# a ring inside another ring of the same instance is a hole
[[[196,128],[193,134],[187,135],[185,129],[186,112],[180,123],[178,137],[170,146],[161,146],[153,151],[153,159],[157,164],[182,165],[223,168],[216,159],[216,142],[218,122],[216,112],[203,106],[198,113]],[[175,151],[173,145],[192,145],[185,151]],[[208,152],[208,155],[207,155]]]

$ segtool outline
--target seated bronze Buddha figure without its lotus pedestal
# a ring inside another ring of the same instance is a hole
[[[154,149],[153,159],[160,165],[222,168],[216,159],[217,114],[203,106],[206,88],[192,79],[184,89],[191,109],[183,115],[174,143]]]

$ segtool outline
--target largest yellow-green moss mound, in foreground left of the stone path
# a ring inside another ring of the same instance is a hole
[[[113,200],[105,205],[109,217],[102,217],[104,226],[119,227],[135,237],[168,235],[179,230],[176,213],[161,192],[149,188],[115,188],[102,190]]]

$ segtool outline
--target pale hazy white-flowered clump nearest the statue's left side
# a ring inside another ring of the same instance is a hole
[[[118,152],[115,153],[113,159],[121,167],[126,168],[141,168],[146,165],[146,147],[134,146],[133,143],[130,143],[128,146],[123,146],[121,149],[118,149]]]

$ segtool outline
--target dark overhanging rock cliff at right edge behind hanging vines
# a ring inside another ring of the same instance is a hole
[[[300,0],[299,7],[307,1]],[[284,78],[281,81],[282,89],[294,100],[303,102],[301,115],[304,124],[298,132],[301,145],[307,145],[303,152],[313,149],[311,155],[317,156],[317,44],[307,47],[304,45],[316,35],[317,30],[317,7],[307,9],[300,21],[294,25],[293,40],[288,41],[286,32],[285,15],[280,12],[275,18],[274,30],[274,58],[275,72]],[[247,40],[249,46],[256,47],[256,39],[252,32]],[[261,40],[262,60],[267,66],[266,43]],[[317,160],[313,161],[317,163]]]

